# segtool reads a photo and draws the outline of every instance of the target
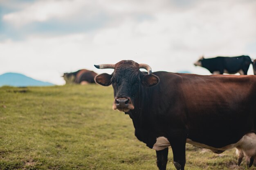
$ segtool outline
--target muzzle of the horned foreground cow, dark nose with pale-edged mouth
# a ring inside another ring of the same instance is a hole
[[[129,97],[116,97],[112,108],[119,111],[129,111],[134,109],[134,105]]]

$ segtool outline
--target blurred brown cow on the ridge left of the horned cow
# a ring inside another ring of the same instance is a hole
[[[66,84],[87,84],[95,83],[95,76],[97,76],[97,73],[90,70],[82,69],[76,72],[64,73],[63,78],[66,81]]]

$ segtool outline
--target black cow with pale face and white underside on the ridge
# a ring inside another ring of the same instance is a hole
[[[252,60],[249,56],[238,57],[216,57],[204,59],[201,57],[194,63],[195,66],[201,66],[211,72],[211,74],[236,74],[247,75]]]

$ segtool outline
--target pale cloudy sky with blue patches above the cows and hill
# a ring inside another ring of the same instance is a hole
[[[256,59],[255,0],[0,0],[0,74],[63,85],[64,72],[130,59],[210,74],[202,55]],[[250,66],[248,74],[253,74]]]

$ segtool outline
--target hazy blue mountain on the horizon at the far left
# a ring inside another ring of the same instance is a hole
[[[0,75],[0,86],[3,86],[3,85],[25,87],[25,86],[50,86],[54,84],[38,81],[19,73],[4,73]]]

